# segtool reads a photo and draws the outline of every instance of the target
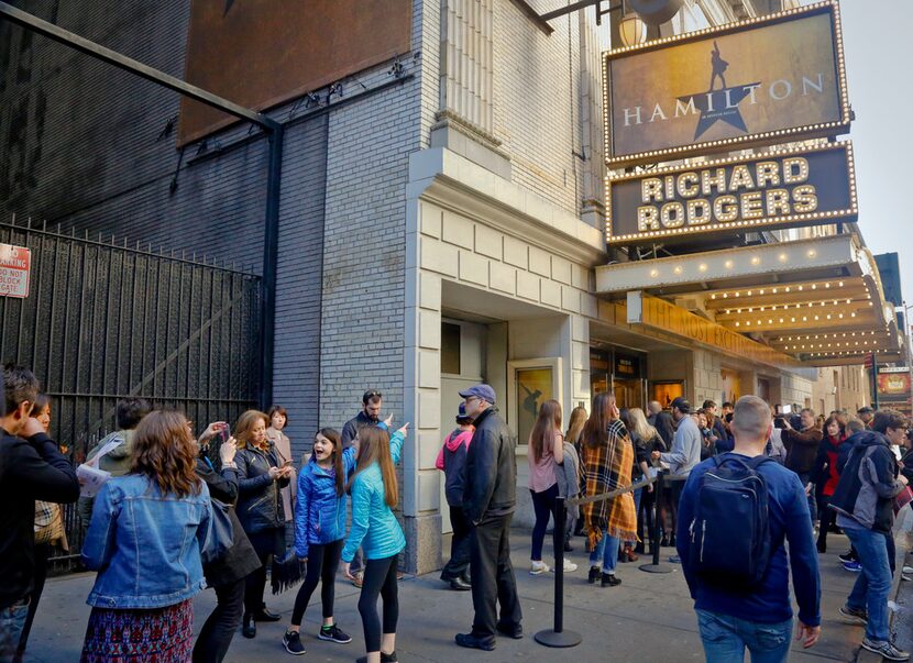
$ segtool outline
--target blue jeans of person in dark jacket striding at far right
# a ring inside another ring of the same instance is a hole
[[[884,641],[888,630],[888,595],[891,592],[891,565],[888,562],[888,534],[861,528],[844,528],[856,552],[862,573],[856,578],[846,603],[850,608],[866,609],[869,621],[866,637]]]

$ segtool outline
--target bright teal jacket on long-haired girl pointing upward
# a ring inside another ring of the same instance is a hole
[[[394,465],[403,455],[404,435],[399,431],[389,439]],[[377,463],[360,472],[352,482],[352,527],[342,549],[342,561],[351,562],[361,546],[365,560],[383,560],[406,548],[406,537],[393,511],[384,501],[384,478]]]

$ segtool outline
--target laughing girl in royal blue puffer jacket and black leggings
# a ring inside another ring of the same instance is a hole
[[[310,460],[298,476],[298,504],[295,508],[295,553],[307,561],[307,574],[295,598],[292,626],[283,637],[290,654],[305,653],[299,630],[311,594],[323,582],[323,626],[320,640],[345,644],[352,639],[333,621],[336,574],[345,537],[345,482],[355,467],[355,446],[342,450],[340,434],[322,428],[314,438]]]

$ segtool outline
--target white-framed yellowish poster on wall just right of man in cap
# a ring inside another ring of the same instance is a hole
[[[517,444],[529,442],[539,408],[551,398],[562,402],[561,357],[507,362],[507,424]]]

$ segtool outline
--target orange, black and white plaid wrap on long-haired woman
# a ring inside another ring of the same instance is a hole
[[[593,449],[583,445],[583,472],[586,479],[584,495],[591,497],[631,485],[634,446],[628,431],[620,421],[613,421],[606,431],[608,443]],[[583,505],[583,518],[587,528],[590,550],[607,532],[622,541],[637,541],[637,513],[634,496],[625,493],[613,499]]]

